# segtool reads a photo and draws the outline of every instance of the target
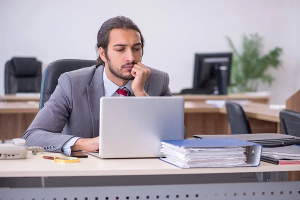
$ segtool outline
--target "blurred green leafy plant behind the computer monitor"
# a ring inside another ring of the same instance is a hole
[[[259,82],[270,86],[275,78],[268,73],[268,69],[279,68],[281,63],[279,56],[282,49],[275,47],[262,55],[263,38],[257,33],[243,36],[240,52],[237,51],[231,38],[226,36],[226,39],[233,55],[228,92],[257,91]]]

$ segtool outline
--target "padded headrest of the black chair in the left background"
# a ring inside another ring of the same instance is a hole
[[[35,57],[13,57],[11,59],[14,75],[18,77],[35,76],[41,63]]]

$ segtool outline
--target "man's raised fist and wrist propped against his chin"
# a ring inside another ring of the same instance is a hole
[[[131,83],[131,88],[135,96],[148,96],[144,90],[145,82],[150,75],[151,70],[141,62],[137,62],[131,69],[131,74],[134,79]]]

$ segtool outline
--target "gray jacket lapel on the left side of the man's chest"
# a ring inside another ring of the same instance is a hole
[[[99,136],[100,98],[104,96],[103,69],[103,65],[98,66],[90,84],[86,85],[93,137]]]

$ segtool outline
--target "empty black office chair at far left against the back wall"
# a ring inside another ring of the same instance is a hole
[[[4,92],[40,92],[41,62],[35,57],[12,57],[5,63]]]

